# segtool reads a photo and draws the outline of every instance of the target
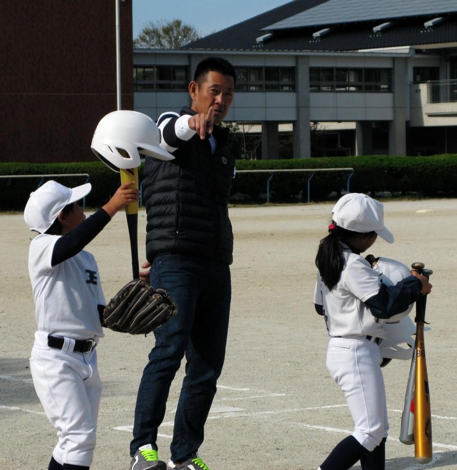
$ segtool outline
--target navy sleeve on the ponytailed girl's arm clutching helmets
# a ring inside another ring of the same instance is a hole
[[[420,295],[422,282],[415,276],[408,276],[395,285],[381,284],[378,293],[365,301],[371,314],[388,319],[404,312]]]

